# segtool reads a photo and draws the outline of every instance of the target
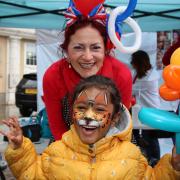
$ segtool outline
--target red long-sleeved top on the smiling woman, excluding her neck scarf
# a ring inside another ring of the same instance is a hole
[[[103,67],[97,73],[115,81],[121,95],[122,103],[130,108],[132,95],[132,76],[129,68],[113,57],[106,57]],[[49,125],[55,140],[68,130],[62,117],[61,101],[67,93],[73,93],[80,81],[80,75],[68,67],[65,59],[53,63],[43,77],[44,102],[47,109]]]

